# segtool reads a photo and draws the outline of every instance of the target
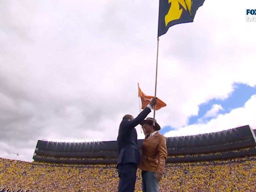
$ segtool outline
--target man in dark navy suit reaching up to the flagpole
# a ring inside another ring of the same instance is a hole
[[[156,104],[156,97],[134,118],[125,114],[119,125],[117,144],[117,169],[119,176],[118,192],[134,191],[137,165],[140,163],[140,154],[137,145],[137,132],[135,126],[143,120]]]

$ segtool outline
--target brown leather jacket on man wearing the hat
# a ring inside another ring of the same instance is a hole
[[[154,135],[143,140],[141,149],[141,162],[138,168],[163,173],[167,158],[165,137],[157,131]]]

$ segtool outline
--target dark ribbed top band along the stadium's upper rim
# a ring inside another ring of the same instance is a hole
[[[245,125],[212,133],[167,137],[166,145],[167,148],[192,148],[232,143],[236,141],[248,140],[251,138],[251,129],[249,125]],[[138,140],[139,146],[141,146],[142,141],[142,139]],[[36,148],[41,150],[60,152],[117,151],[117,142],[54,142],[38,140]]]

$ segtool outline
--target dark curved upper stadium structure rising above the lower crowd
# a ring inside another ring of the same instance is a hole
[[[218,132],[167,137],[167,162],[214,160],[254,155],[256,154],[255,133],[255,130],[252,130],[249,125],[244,125]],[[138,140],[139,147],[142,141],[143,139]],[[219,152],[221,153],[219,154]],[[116,163],[117,156],[116,141],[54,142],[38,140],[33,159],[59,163],[105,164]]]

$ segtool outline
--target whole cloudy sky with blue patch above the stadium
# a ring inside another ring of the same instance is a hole
[[[256,128],[247,8],[255,0],[205,0],[160,36],[165,136]],[[138,114],[137,82],[154,93],[158,0],[0,0],[0,18],[0,157],[32,161],[38,139],[115,140]]]

